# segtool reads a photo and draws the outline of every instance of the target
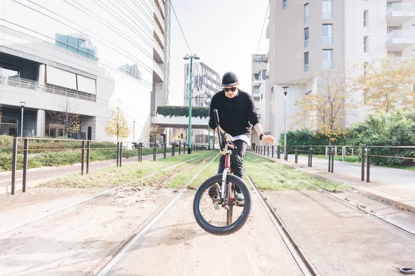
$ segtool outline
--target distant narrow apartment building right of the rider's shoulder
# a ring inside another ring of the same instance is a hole
[[[252,55],[252,98],[264,134],[270,134],[270,80],[267,75],[267,55]],[[257,132],[252,129],[252,143],[261,145]]]

